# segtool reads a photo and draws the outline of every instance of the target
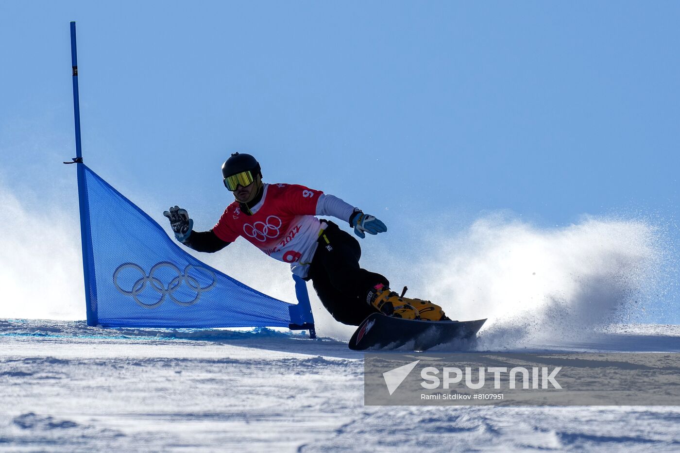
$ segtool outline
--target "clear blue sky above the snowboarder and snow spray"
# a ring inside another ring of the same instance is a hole
[[[678,241],[678,2],[3,1],[18,192],[73,177],[71,20],[86,163],[202,227],[239,150],[388,226],[509,209],[651,218]]]

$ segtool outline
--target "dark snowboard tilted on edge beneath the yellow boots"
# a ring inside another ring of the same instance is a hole
[[[413,341],[414,351],[424,351],[454,339],[471,339],[486,319],[475,321],[424,321],[373,313],[358,326],[350,349],[394,349]]]

